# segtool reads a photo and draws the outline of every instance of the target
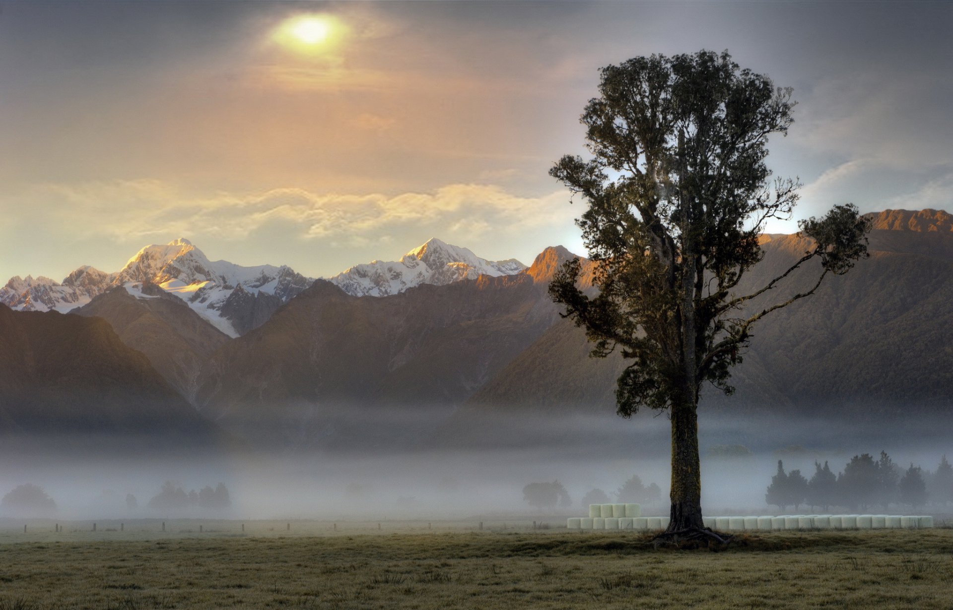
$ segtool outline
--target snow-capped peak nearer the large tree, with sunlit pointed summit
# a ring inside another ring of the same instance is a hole
[[[525,269],[516,259],[487,261],[468,248],[434,238],[399,261],[355,265],[328,280],[356,297],[383,297],[421,284],[446,285],[480,275],[515,275]]]

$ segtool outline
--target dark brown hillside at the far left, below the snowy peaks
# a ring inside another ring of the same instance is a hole
[[[142,434],[174,440],[212,426],[100,318],[0,305],[0,429]]]

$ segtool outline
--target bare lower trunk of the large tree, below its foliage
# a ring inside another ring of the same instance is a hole
[[[702,527],[699,419],[695,404],[672,407],[672,508],[667,532]]]

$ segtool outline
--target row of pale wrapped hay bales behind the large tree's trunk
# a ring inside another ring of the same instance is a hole
[[[616,506],[635,506],[639,504],[592,504],[589,514],[599,506],[599,514],[605,514],[601,507],[610,506],[616,512]],[[569,529],[632,529],[662,530],[668,527],[668,517],[571,517],[566,520]],[[929,516],[901,515],[781,515],[780,517],[705,517],[705,527],[719,531],[780,531],[800,529],[909,529],[933,527],[933,518]]]

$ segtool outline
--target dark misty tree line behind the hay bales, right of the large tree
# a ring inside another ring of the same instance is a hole
[[[834,474],[828,462],[815,462],[810,480],[800,470],[784,472],[778,461],[778,472],[771,478],[765,502],[783,511],[801,505],[828,511],[833,506],[851,511],[871,510],[880,506],[886,510],[891,504],[919,509],[928,502],[945,506],[953,502],[953,466],[940,461],[930,473],[912,463],[906,469],[898,466],[885,451],[875,460],[869,453],[856,455]]]

